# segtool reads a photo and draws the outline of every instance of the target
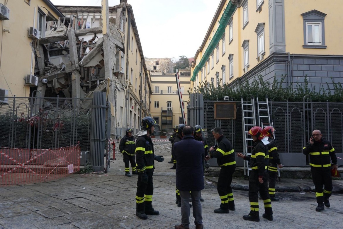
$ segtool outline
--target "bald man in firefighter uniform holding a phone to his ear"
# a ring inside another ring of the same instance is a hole
[[[330,207],[329,197],[332,191],[331,164],[337,169],[337,157],[335,149],[329,141],[322,139],[320,130],[314,130],[307,145],[303,148],[303,154],[310,155],[312,180],[316,189],[318,206],[317,212],[324,210],[324,205]],[[324,190],[323,190],[324,185]]]

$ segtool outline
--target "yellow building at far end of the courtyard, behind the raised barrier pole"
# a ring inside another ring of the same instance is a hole
[[[189,77],[189,70],[179,71],[180,87],[182,99],[185,105],[184,107],[186,119],[186,101],[189,100],[189,94],[187,91],[190,88]],[[166,75],[151,75],[151,87],[151,117],[156,120],[161,130],[172,133],[173,127],[175,125],[184,123],[181,115],[175,73],[169,73]]]

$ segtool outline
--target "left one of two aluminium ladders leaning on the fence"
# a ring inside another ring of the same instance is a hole
[[[248,99],[247,99],[248,100]],[[248,131],[253,127],[256,126],[256,113],[255,113],[255,99],[253,96],[250,98],[250,103],[244,102],[243,98],[241,98],[242,104],[242,124],[243,124],[243,154],[244,156],[250,156],[251,150],[249,151],[248,148],[253,147],[253,140],[250,135],[248,135]],[[250,161],[244,160],[244,176],[249,176],[249,168]]]

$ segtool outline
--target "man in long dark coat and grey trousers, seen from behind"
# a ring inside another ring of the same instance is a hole
[[[200,196],[201,190],[204,189],[202,161],[205,157],[205,149],[202,142],[195,140],[193,132],[192,126],[185,126],[182,129],[182,141],[174,143],[174,156],[177,163],[176,188],[180,190],[181,197],[181,224],[176,225],[176,229],[189,228],[190,197],[196,229],[203,228]]]

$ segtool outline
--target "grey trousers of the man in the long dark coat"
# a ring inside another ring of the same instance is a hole
[[[192,197],[193,205],[193,217],[194,224],[202,224],[201,216],[201,202],[200,202],[201,190],[200,191],[181,191],[181,223],[182,226],[189,228],[189,216],[190,216],[190,207],[189,207],[189,197]]]

